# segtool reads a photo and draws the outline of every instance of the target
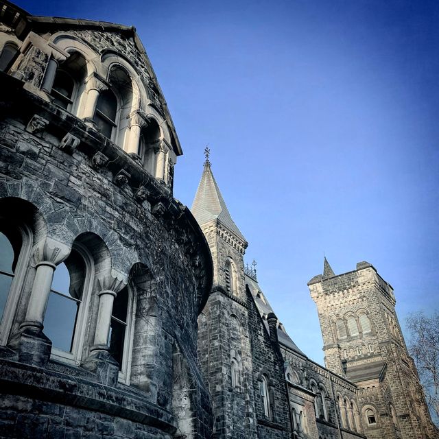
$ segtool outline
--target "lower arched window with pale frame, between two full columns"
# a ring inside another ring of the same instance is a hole
[[[54,272],[44,319],[54,357],[80,361],[92,265],[86,250],[75,247]]]

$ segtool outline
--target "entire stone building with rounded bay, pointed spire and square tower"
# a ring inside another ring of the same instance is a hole
[[[192,213],[174,199],[134,28],[6,0],[0,22],[0,438],[438,438],[370,264],[309,283],[323,367],[244,266],[209,158]]]

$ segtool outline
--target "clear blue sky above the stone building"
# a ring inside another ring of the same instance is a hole
[[[401,324],[439,308],[439,2],[125,0],[18,3],[134,25],[185,155],[191,206],[211,148],[259,283],[322,362],[307,281],[359,261],[394,287]]]

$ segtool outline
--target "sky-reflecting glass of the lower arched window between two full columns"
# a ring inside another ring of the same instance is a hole
[[[76,321],[82,300],[86,266],[75,250],[60,263],[54,273],[54,281],[47,303],[44,331],[54,347],[71,352],[75,337]]]

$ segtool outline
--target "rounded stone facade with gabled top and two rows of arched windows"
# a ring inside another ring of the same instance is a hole
[[[0,437],[208,438],[211,255],[139,38],[0,11]]]

